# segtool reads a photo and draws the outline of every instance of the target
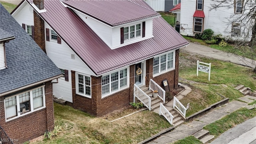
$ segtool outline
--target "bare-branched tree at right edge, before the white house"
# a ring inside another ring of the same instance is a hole
[[[222,7],[234,10],[229,24],[238,22],[240,25],[242,39],[235,41],[232,53],[243,52],[247,47],[254,54],[252,59],[256,59],[256,0],[212,0],[211,10]],[[256,72],[256,67],[253,71]]]

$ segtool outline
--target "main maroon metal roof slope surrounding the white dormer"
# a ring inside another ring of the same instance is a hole
[[[106,1],[101,1],[102,5]],[[133,2],[137,1],[144,2]],[[158,17],[153,19],[153,38],[111,50],[80,17],[65,8],[59,0],[44,0],[44,8],[47,12],[40,13],[42,18],[96,75],[188,44],[170,24]]]

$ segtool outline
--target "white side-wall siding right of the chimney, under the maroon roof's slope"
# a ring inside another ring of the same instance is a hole
[[[45,28],[52,29],[45,23]],[[46,37],[46,36],[45,36]],[[46,41],[47,56],[56,64],[58,68],[68,70],[68,81],[59,78],[58,84],[53,84],[53,93],[57,98],[62,97],[63,100],[72,102],[72,79],[71,70],[81,72],[87,75],[95,74],[84,64],[84,62],[72,51],[72,49],[62,40],[61,44],[57,41]],[[71,54],[74,54],[75,59],[71,59]]]

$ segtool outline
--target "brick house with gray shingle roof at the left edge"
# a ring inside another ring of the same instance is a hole
[[[62,73],[0,5],[0,137],[22,144],[54,129],[52,80]]]

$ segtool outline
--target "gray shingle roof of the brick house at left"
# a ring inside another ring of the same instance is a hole
[[[0,27],[15,37],[5,45],[8,68],[0,70],[0,93],[60,76],[62,73],[57,66],[2,4],[0,11]]]

